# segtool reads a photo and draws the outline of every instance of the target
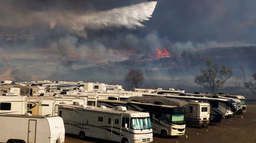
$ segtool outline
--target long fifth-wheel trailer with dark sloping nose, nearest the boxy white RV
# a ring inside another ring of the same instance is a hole
[[[183,101],[197,100],[199,102],[209,102],[211,106],[210,111],[210,122],[219,123],[221,121],[222,115],[231,116],[236,112],[236,101],[222,99],[222,98],[209,98],[209,97],[195,97],[192,94],[180,93],[179,95],[160,95],[160,94],[143,94],[143,96],[164,96],[166,98],[180,99]]]

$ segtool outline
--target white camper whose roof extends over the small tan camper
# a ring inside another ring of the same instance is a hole
[[[42,101],[42,116],[54,116],[55,115],[55,98],[51,97],[28,97],[28,102]]]

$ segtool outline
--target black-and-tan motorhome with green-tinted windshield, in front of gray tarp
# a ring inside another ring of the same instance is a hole
[[[130,98],[128,98],[130,99]],[[168,99],[167,99],[168,100]],[[155,104],[139,103],[134,101],[98,100],[99,106],[114,108],[116,106],[126,107],[127,110],[148,112],[150,115],[153,133],[160,134],[166,138],[169,136],[184,135],[186,126],[185,107],[175,107],[162,105],[160,102]]]

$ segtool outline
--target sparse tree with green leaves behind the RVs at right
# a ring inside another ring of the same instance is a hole
[[[217,76],[219,66],[212,65],[210,60],[206,60],[207,69],[201,69],[201,75],[195,76],[195,83],[204,86],[211,90],[212,93],[217,93],[224,85],[225,81],[233,76],[231,68],[226,68],[222,65]]]

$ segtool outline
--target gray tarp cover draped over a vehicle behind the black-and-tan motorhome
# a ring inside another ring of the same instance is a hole
[[[164,96],[134,96],[126,99],[125,101],[135,101],[135,102],[143,102],[143,103],[151,103],[154,104],[155,101],[161,102],[163,105],[170,106],[180,106],[186,108],[186,116],[189,115],[189,103],[186,101],[182,101],[179,99],[166,98]]]

